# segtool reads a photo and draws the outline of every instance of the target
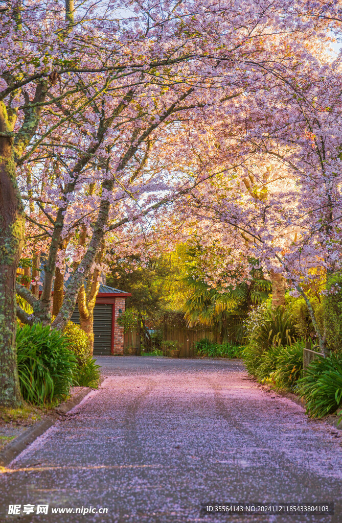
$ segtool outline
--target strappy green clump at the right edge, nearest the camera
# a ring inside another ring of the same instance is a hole
[[[342,405],[342,359],[331,354],[317,357],[299,380],[306,412],[321,418]]]

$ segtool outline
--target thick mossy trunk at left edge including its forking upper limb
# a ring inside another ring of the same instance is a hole
[[[25,228],[16,167],[37,130],[40,104],[47,90],[47,79],[37,82],[32,107],[25,109],[24,121],[17,132],[14,132],[16,109],[0,101],[0,404],[12,407],[21,403],[15,346],[16,273]]]

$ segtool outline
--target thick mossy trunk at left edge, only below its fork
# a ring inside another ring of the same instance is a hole
[[[7,130],[0,120],[0,131]],[[16,274],[24,243],[24,208],[15,177],[13,139],[0,135],[0,404],[18,407]]]

